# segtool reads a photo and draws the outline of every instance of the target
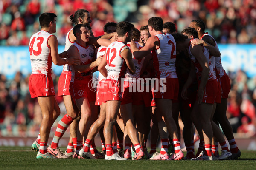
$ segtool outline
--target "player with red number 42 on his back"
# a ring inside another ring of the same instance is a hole
[[[113,152],[112,147],[112,136],[113,136],[113,126],[116,123],[116,116],[120,108],[122,101],[121,94],[121,78],[125,77],[126,68],[131,74],[135,73],[134,63],[132,61],[131,51],[126,45],[127,42],[131,41],[131,33],[134,25],[126,21],[120,22],[116,26],[116,32],[118,34],[118,39],[116,42],[108,45],[106,54],[100,63],[98,70],[102,73],[103,76],[107,77],[105,84],[108,87],[105,87],[104,99],[106,101],[106,121],[104,125],[104,136],[106,142],[106,160],[127,160],[121,158],[119,155]],[[108,71],[105,68],[105,65],[108,66]],[[134,147],[140,147],[140,144],[134,145]],[[141,159],[144,156],[136,154],[136,159]]]

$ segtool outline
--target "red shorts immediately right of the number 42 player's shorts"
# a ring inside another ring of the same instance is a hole
[[[135,88],[133,88],[133,86],[135,86]],[[137,106],[143,105],[143,99],[140,96],[140,93],[142,92],[138,92],[137,90],[137,84],[135,82],[131,83],[128,81],[124,81],[121,105],[125,105],[128,103],[132,103],[133,105]]]

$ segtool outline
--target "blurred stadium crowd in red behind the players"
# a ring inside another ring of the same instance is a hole
[[[174,22],[177,32],[199,18],[219,43],[256,43],[254,0],[0,0],[0,45],[29,45],[29,37],[40,30],[38,17],[42,12],[57,14],[55,35],[59,45],[64,45],[73,27],[69,16],[79,8],[90,11],[95,36],[103,34],[108,21],[127,20],[140,28],[147,25],[148,18],[159,16],[164,22]],[[249,79],[243,71],[229,72],[229,77],[227,116],[233,131],[256,136],[256,78]],[[57,90],[59,75],[52,74],[52,78]],[[38,135],[41,110],[37,99],[30,97],[28,79],[20,72],[13,80],[0,75],[0,136]],[[62,98],[57,97],[57,101],[62,117]]]

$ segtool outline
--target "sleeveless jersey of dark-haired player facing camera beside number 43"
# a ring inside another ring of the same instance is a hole
[[[79,52],[81,65],[87,65],[93,61],[94,48],[92,45],[87,45],[86,47],[84,47],[80,45],[78,42],[75,42],[73,46],[75,46],[77,48],[77,51]],[[70,65],[70,68],[72,73],[70,82],[73,82],[75,79],[90,80],[93,77],[92,70],[83,73],[76,73],[75,69],[73,68],[73,65]]]

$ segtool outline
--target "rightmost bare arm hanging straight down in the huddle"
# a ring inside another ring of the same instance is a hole
[[[207,63],[207,59],[204,56],[203,53],[203,47],[200,45],[194,45],[190,49],[191,53],[195,58],[198,60],[200,66],[202,67],[202,78],[200,85],[198,87],[198,105],[202,102],[203,96],[204,96],[204,87],[208,81],[210,68]]]

